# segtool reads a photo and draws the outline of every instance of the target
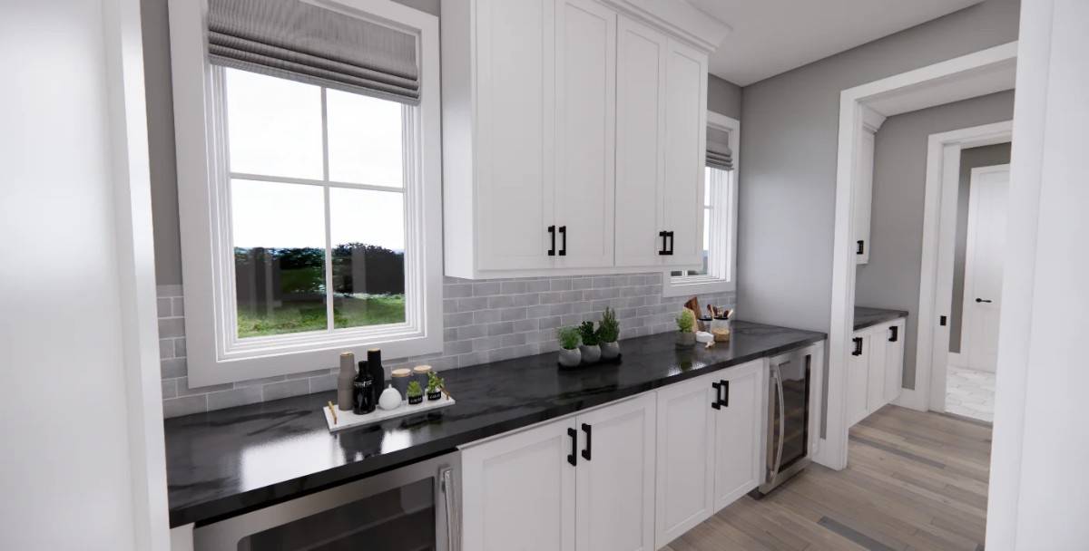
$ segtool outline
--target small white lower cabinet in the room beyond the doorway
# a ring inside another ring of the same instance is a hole
[[[847,364],[847,421],[862,421],[900,397],[905,320],[855,331]]]

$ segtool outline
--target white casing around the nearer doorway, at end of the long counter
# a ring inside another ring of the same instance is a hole
[[[855,133],[861,130],[862,107],[869,101],[896,92],[913,92],[938,86],[996,65],[1017,57],[1017,42],[981,50],[926,67],[908,71],[840,93],[839,155],[836,159],[835,228],[832,260],[832,306],[829,327],[829,408],[825,439],[817,461],[831,468],[847,465],[846,365],[849,340],[854,333],[855,249],[854,249],[854,166]],[[928,107],[928,105],[922,105]],[[921,109],[921,107],[919,108]],[[890,115],[892,113],[882,113]],[[918,383],[916,383],[918,387]],[[914,392],[913,392],[914,393]],[[902,400],[908,392],[902,392]]]

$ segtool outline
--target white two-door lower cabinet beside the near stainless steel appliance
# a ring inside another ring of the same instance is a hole
[[[463,549],[653,551],[654,397],[462,451]]]

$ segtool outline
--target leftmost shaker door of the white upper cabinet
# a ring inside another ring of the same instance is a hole
[[[477,0],[476,10],[477,224],[448,239],[476,239],[478,270],[549,267],[554,0]]]

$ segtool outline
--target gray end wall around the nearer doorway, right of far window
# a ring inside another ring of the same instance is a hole
[[[1017,39],[988,0],[742,89],[737,311],[827,331],[840,91]]]

